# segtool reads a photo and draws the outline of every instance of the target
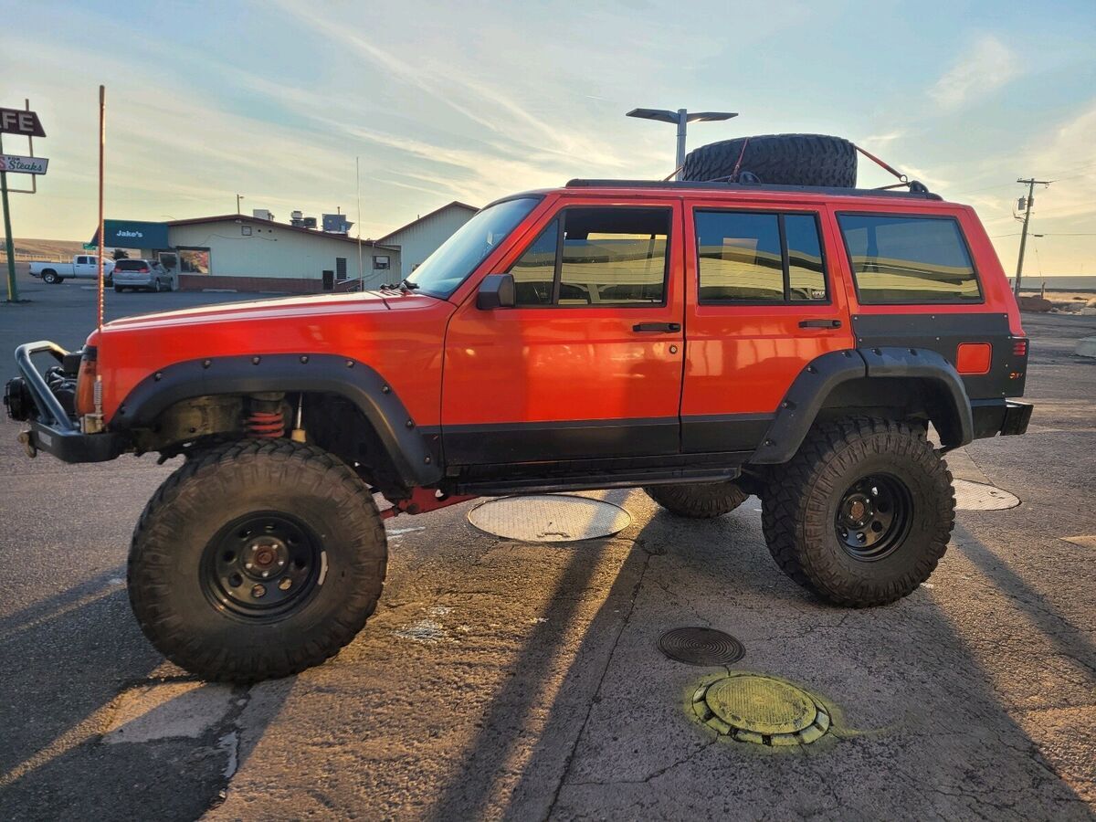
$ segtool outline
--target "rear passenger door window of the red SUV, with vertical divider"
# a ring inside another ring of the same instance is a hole
[[[695,212],[700,302],[827,299],[813,214]]]

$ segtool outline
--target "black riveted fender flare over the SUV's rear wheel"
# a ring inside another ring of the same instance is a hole
[[[757,465],[787,463],[799,450],[830,392],[842,383],[872,377],[923,379],[934,384],[943,389],[955,413],[954,430],[943,444],[957,448],[973,439],[973,415],[962,378],[937,352],[900,347],[831,351],[812,359],[791,383],[765,438],[749,461]]]

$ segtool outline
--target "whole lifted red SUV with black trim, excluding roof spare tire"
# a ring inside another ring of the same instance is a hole
[[[175,663],[255,681],[363,627],[385,516],[479,494],[639,486],[688,517],[758,494],[791,579],[898,600],[951,533],[943,453],[1027,429],[1027,356],[969,207],[572,181],[488,206],[398,286],[23,345],[5,400],[32,456],[185,456],[137,524],[130,601]]]

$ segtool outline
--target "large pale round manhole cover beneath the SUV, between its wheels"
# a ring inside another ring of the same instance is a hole
[[[631,524],[631,517],[619,505],[604,500],[536,494],[489,500],[468,512],[468,522],[496,537],[570,543],[616,534]]]

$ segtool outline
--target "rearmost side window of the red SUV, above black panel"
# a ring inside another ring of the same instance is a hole
[[[955,219],[840,214],[837,221],[863,305],[981,301]]]

